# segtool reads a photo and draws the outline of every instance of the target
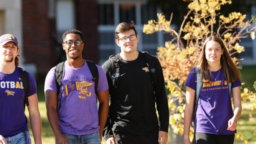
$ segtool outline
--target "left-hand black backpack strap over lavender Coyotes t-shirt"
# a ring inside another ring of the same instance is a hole
[[[57,97],[58,94],[60,93],[60,89],[61,89],[61,82],[62,82],[62,78],[64,75],[64,68],[65,68],[65,61],[61,63],[58,63],[56,68],[55,68],[55,81],[56,81],[56,86],[57,86]],[[62,95],[61,95],[61,99],[62,99]],[[60,99],[60,103],[58,107],[58,110],[61,108],[61,99]]]

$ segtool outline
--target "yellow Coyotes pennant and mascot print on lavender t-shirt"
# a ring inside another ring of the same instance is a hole
[[[91,86],[93,83],[88,83],[87,81],[76,82],[76,89],[79,91],[79,98],[86,99],[85,96],[91,96],[91,92],[88,92],[87,86]]]

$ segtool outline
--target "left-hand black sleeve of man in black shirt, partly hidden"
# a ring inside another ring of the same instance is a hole
[[[111,84],[112,84],[112,80],[111,80],[111,61],[107,60],[105,63],[103,63],[102,65],[102,69],[104,70],[107,80],[108,80],[108,87],[109,87],[109,94],[111,96]],[[103,130],[103,137],[105,138],[105,140],[107,140],[109,137],[111,137],[113,135],[113,131],[112,131],[112,124],[111,124],[111,120],[108,116],[104,130]]]

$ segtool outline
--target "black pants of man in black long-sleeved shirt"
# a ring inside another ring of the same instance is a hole
[[[134,135],[127,132],[115,132],[114,138],[116,144],[159,144],[159,130],[154,130],[148,135]]]

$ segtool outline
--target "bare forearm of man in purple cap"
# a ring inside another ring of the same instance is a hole
[[[39,111],[33,115],[29,115],[31,130],[34,136],[35,144],[42,144],[42,122]]]

